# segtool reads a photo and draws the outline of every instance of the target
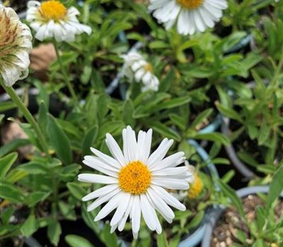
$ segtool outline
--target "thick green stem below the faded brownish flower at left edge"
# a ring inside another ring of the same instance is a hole
[[[38,126],[37,122],[35,121],[35,119],[33,118],[33,115],[30,114],[30,111],[28,110],[27,107],[25,107],[25,104],[23,104],[23,101],[20,99],[20,97],[18,97],[18,95],[16,94],[16,91],[12,88],[12,87],[7,87],[3,80],[1,80],[0,78],[0,83],[1,86],[4,88],[4,90],[8,93],[8,95],[10,95],[11,99],[13,100],[13,102],[15,102],[15,104],[17,105],[18,109],[21,110],[21,113],[23,114],[23,116],[25,116],[25,119],[28,121],[28,123],[30,123],[30,125],[33,127],[37,138],[40,142],[40,145],[42,147],[43,152],[45,152],[45,155],[47,156],[47,158],[49,160],[51,160],[51,156],[48,152],[48,145],[47,142],[45,140],[44,135],[42,134],[42,131],[40,130],[40,126]]]

